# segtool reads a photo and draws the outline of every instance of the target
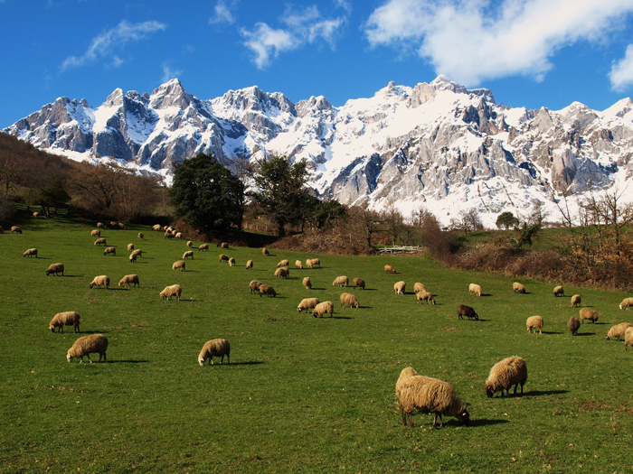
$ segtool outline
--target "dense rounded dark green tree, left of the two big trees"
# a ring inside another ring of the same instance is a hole
[[[241,228],[244,186],[213,156],[200,153],[179,165],[169,198],[175,206],[175,217],[194,228]]]

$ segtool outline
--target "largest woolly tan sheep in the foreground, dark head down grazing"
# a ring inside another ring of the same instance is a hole
[[[438,415],[440,427],[444,426],[444,414],[454,416],[465,426],[470,421],[467,406],[455,393],[453,386],[438,378],[420,376],[411,367],[402,370],[396,383],[396,395],[402,410],[402,424],[405,426],[407,417],[409,425],[413,426],[411,413],[415,409],[433,412],[433,428],[438,422]]]

